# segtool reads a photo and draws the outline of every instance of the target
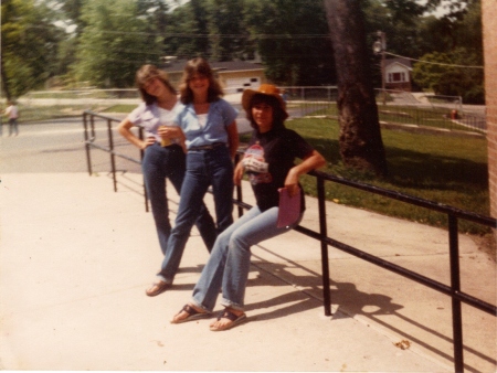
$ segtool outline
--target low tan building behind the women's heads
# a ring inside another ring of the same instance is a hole
[[[167,58],[160,66],[169,76],[169,81],[178,87],[183,75],[186,60]],[[246,88],[257,89],[266,83],[264,67],[260,63],[246,61],[209,62],[220,81],[224,93],[241,93]]]

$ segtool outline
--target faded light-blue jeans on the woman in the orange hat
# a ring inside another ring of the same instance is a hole
[[[245,287],[251,266],[251,246],[275,237],[298,225],[276,226],[278,207],[264,212],[255,206],[221,233],[215,241],[209,262],[193,289],[192,302],[212,311],[222,289],[222,306],[243,310]]]

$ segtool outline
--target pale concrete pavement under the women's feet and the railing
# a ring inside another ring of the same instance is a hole
[[[121,175],[114,193],[104,174],[1,175],[0,369],[453,371],[448,297],[330,248],[325,317],[319,243],[297,232],[253,247],[246,323],[170,324],[208,253],[192,232],[173,289],[145,296],[161,254],[140,183]],[[302,225],[317,230],[307,204]],[[327,212],[334,238],[448,284],[445,231],[335,203]],[[459,241],[463,290],[495,303],[495,263]],[[495,372],[495,318],[464,307],[463,321],[467,371]]]

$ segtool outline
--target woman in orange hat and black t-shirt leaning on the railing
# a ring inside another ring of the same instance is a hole
[[[251,246],[288,232],[300,222],[305,200],[298,178],[326,163],[297,132],[285,127],[286,106],[274,85],[263,84],[257,90],[245,90],[242,106],[254,131],[243,160],[235,168],[234,183],[240,184],[243,173],[247,173],[256,205],[218,236],[191,301],[171,323],[209,317],[220,289],[224,311],[210,329],[226,330],[246,319],[243,308]],[[297,166],[294,163],[296,158],[303,159]],[[278,224],[282,189],[290,199],[299,200],[296,217],[283,226]]]

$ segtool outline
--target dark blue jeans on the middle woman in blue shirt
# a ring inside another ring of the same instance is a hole
[[[190,150],[187,154],[187,173],[181,188],[178,215],[161,270],[157,274],[162,281],[172,284],[175,279],[191,227],[210,185],[214,194],[218,233],[221,233],[233,223],[233,163],[224,146],[210,150]]]

